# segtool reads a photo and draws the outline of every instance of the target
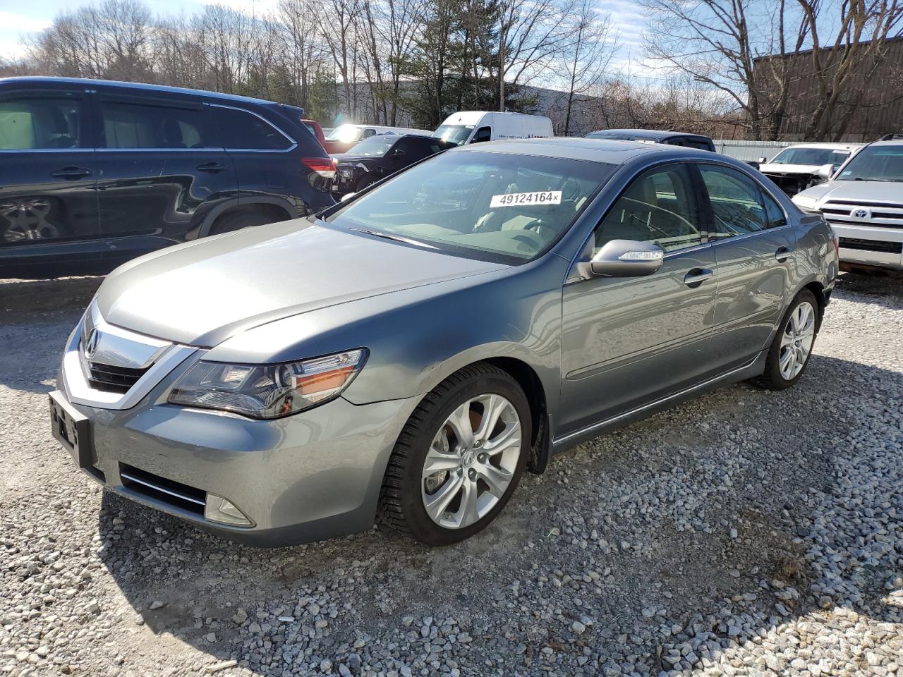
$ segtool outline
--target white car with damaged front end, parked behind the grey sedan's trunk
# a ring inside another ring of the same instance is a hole
[[[824,181],[824,174],[837,171],[862,144],[794,144],[777,153],[771,162],[759,158],[759,172],[787,193],[796,195]]]

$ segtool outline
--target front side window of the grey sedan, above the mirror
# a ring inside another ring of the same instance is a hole
[[[610,240],[651,242],[666,252],[703,244],[693,179],[683,163],[641,173],[609,209],[595,233],[595,254]]]

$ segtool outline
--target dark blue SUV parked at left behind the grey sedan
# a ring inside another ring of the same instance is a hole
[[[303,109],[193,89],[0,79],[0,277],[145,252],[334,204]]]

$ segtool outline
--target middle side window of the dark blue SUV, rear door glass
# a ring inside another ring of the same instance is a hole
[[[213,148],[202,108],[101,101],[106,148]]]

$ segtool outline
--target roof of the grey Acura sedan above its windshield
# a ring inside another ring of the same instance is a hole
[[[613,139],[587,139],[573,136],[558,136],[542,139],[511,139],[507,141],[491,141],[483,144],[458,146],[449,153],[512,153],[537,155],[541,157],[563,158],[573,160],[590,160],[592,162],[609,162],[624,164],[639,155],[656,155],[666,160],[668,157],[699,158],[712,160],[710,151],[672,146],[666,144],[644,144],[641,141],[616,141]],[[729,159],[720,155],[723,159]]]

